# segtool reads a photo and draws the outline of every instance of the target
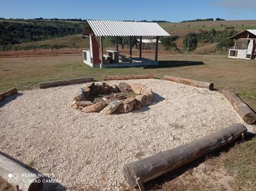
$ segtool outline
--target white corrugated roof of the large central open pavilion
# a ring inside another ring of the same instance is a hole
[[[169,36],[156,22],[87,20],[82,35],[95,36]]]

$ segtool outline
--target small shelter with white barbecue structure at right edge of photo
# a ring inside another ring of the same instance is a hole
[[[228,39],[234,39],[234,48],[229,49],[228,58],[255,59],[256,30],[244,30]],[[245,42],[244,49],[237,49],[238,39]]]

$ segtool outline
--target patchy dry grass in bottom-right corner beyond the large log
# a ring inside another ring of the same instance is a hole
[[[164,175],[146,185],[149,190],[255,190],[256,138],[237,142],[231,148],[214,153]],[[198,165],[199,164],[199,165]],[[184,171],[184,173],[182,173]]]

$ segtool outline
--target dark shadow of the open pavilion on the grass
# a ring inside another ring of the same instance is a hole
[[[184,61],[184,60],[160,60],[158,66],[144,66],[144,69],[150,68],[168,68],[168,67],[181,67],[181,66],[197,66],[204,65],[201,61]]]

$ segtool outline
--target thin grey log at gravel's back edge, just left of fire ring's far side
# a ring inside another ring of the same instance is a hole
[[[93,77],[86,77],[86,78],[74,78],[71,80],[58,80],[58,81],[50,81],[50,82],[41,82],[38,83],[39,88],[47,88],[59,85],[67,85],[67,84],[75,84],[75,83],[83,83],[83,82],[93,82]]]

